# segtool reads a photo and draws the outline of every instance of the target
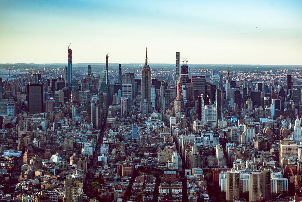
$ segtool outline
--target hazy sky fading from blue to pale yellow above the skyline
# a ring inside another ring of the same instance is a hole
[[[302,65],[302,1],[0,1],[0,63]]]

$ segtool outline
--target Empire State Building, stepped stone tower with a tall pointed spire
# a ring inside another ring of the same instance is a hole
[[[150,70],[150,66],[148,65],[147,48],[146,48],[146,61],[145,61],[145,65],[143,66],[143,71],[142,71],[142,104],[145,100],[148,103],[148,112],[150,112],[152,110],[151,70]]]

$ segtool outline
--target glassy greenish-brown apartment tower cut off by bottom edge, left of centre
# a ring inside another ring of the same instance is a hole
[[[83,178],[76,174],[66,176],[66,202],[83,201]]]

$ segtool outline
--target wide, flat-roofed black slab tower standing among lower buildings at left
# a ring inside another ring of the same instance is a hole
[[[29,114],[43,111],[43,84],[27,84],[27,107]]]

